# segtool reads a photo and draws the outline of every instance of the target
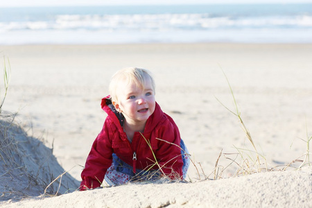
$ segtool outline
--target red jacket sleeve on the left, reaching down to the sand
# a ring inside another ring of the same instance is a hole
[[[109,123],[110,121],[106,119],[103,129],[92,144],[85,168],[81,173],[83,181],[80,184],[80,191],[100,187],[107,168],[112,165],[112,142],[110,141],[111,131],[108,130]]]

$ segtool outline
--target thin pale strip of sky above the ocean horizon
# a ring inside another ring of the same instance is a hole
[[[312,0],[0,0],[0,7],[101,6],[206,3],[312,3]]]

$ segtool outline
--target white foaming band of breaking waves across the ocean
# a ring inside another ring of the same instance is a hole
[[[209,14],[55,15],[46,21],[0,21],[0,31],[190,31],[312,28],[312,16],[213,17]]]

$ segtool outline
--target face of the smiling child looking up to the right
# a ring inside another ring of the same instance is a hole
[[[145,123],[155,110],[155,93],[150,78],[146,79],[145,89],[135,83],[120,85],[117,90],[119,101],[113,102],[116,110],[122,112],[125,122],[132,124]]]

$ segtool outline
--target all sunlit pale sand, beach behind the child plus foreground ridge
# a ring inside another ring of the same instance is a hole
[[[232,178],[239,166],[227,167],[231,160],[225,157],[236,155],[221,155],[218,165],[227,168],[220,177],[229,179],[197,181],[205,175],[214,178],[211,173],[221,150],[238,153],[243,149],[244,157],[248,158],[245,164],[253,164],[248,155],[254,158],[254,154],[248,150],[254,149],[239,119],[216,99],[235,111],[223,71],[234,91],[241,117],[257,150],[266,158],[268,168],[282,168],[294,159],[304,159],[301,157],[306,153],[304,140],[311,137],[312,126],[312,44],[32,45],[0,46],[0,51],[10,58],[12,69],[3,110],[18,111],[15,121],[28,135],[44,138],[46,146],[53,148],[58,163],[76,180],[80,180],[82,166],[105,119],[100,103],[107,95],[110,77],[115,71],[130,66],[153,72],[157,102],[175,119],[200,172],[198,175],[194,166],[189,169],[189,178],[194,184],[131,184],[69,193],[43,201],[66,200],[67,207],[72,207],[79,201],[92,203],[94,200],[90,198],[96,196],[103,198],[97,202],[105,201],[103,207],[123,207],[119,197],[115,198],[116,192],[121,192],[123,196],[137,197],[138,202],[130,200],[133,201],[128,204],[130,207],[161,207],[163,203],[173,207],[182,204],[189,207],[309,207],[311,168],[302,171],[287,168],[286,172],[250,176],[239,172],[243,177]],[[260,158],[264,163],[263,157]],[[297,162],[295,166],[300,164]],[[250,194],[256,190],[254,184],[259,184],[259,191]],[[148,190],[152,194],[159,189],[168,190],[164,195],[170,200],[161,195],[148,196]],[[170,191],[177,189],[183,193]],[[278,191],[281,189],[284,192]],[[299,191],[295,191],[297,189]],[[146,198],[139,190],[147,194]],[[286,192],[291,200],[284,197]],[[80,200],[73,202],[77,198]],[[234,203],[238,198],[244,200]],[[38,207],[44,205],[42,200],[31,203],[37,203]],[[51,205],[53,203],[57,202]]]

